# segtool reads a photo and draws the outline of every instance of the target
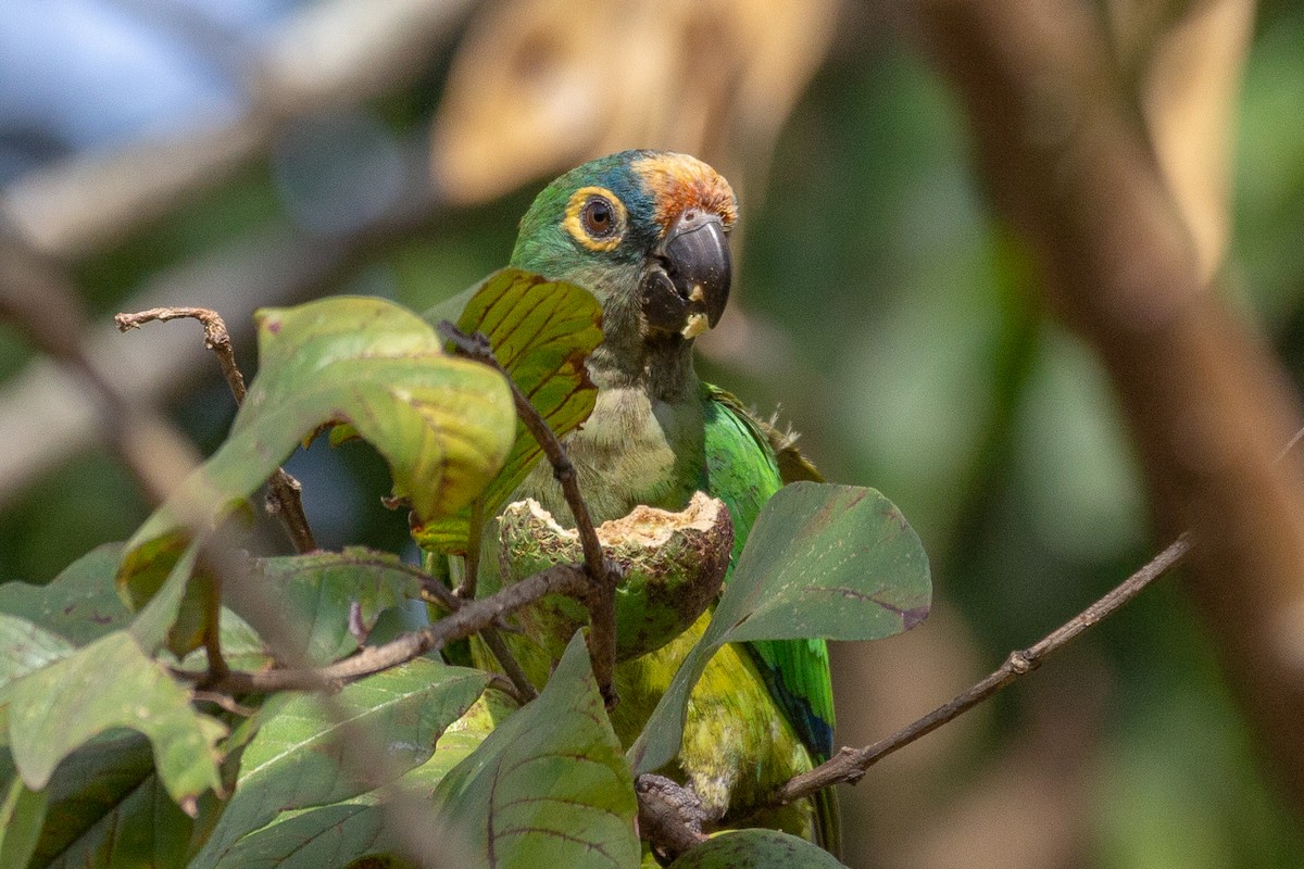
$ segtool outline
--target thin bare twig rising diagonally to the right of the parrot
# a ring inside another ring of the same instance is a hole
[[[951,702],[938,706],[923,718],[902,727],[887,739],[859,749],[842,748],[836,756],[811,771],[793,776],[775,793],[771,800],[772,805],[786,805],[831,784],[841,782],[855,784],[865,776],[866,770],[888,754],[909,745],[926,734],[931,734],[947,722],[958,718],[961,714],[983,702],[1020,676],[1037,670],[1046,658],[1059,651],[1080,633],[1112,614],[1140,594],[1150,582],[1176,567],[1185,558],[1187,552],[1191,551],[1191,545],[1189,534],[1180,535],[1166,550],[1150,559],[1145,567],[1115,586],[1099,601],[1042,637],[1035,645],[1021,651],[1009,653],[1009,657],[1005,658],[1005,662],[1000,667],[957,694]]]

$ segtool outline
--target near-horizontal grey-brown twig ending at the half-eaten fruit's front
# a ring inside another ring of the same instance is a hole
[[[379,646],[363,649],[352,658],[335,662],[326,667],[287,667],[259,672],[231,671],[222,679],[203,681],[203,676],[193,677],[206,691],[220,691],[228,694],[267,693],[273,691],[334,691],[342,685],[370,676],[372,674],[396,667],[442,649],[454,640],[480,633],[492,628],[498,618],[539,601],[548,594],[585,595],[592,590],[583,572],[569,565],[552,567],[536,573],[498,594],[479,601],[463,603],[456,612],[439,619],[428,628],[404,633]]]

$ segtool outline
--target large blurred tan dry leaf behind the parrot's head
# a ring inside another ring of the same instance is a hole
[[[469,205],[629,147],[742,181],[823,60],[837,0],[510,0],[472,22],[434,120],[436,184]]]

